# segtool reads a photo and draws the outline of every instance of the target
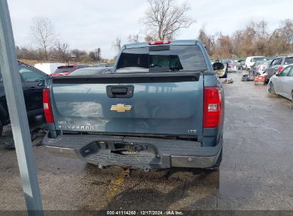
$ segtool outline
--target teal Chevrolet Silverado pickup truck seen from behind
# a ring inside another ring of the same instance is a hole
[[[215,70],[223,68],[200,41],[124,45],[109,73],[46,80],[43,143],[99,168],[217,169],[224,92]]]

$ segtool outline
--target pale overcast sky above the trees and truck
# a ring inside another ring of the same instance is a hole
[[[177,2],[183,2],[178,0]],[[195,39],[202,25],[207,33],[221,31],[232,34],[249,21],[264,19],[269,29],[284,18],[293,18],[292,0],[190,0],[189,16],[196,20],[190,28],[181,30],[177,39]],[[140,18],[148,4],[146,0],[9,0],[9,10],[16,45],[30,46],[29,29],[34,16],[48,17],[61,40],[91,51],[101,48],[103,58],[113,58],[112,45],[116,37],[127,43],[130,34],[143,30]],[[140,38],[143,41],[143,37]]]

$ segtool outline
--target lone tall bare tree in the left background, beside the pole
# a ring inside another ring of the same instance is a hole
[[[56,43],[56,35],[51,21],[46,17],[34,17],[31,26],[31,41],[38,45],[48,60],[48,51]]]

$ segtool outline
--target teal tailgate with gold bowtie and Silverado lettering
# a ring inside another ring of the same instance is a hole
[[[52,77],[56,130],[113,134],[202,134],[200,72]]]

